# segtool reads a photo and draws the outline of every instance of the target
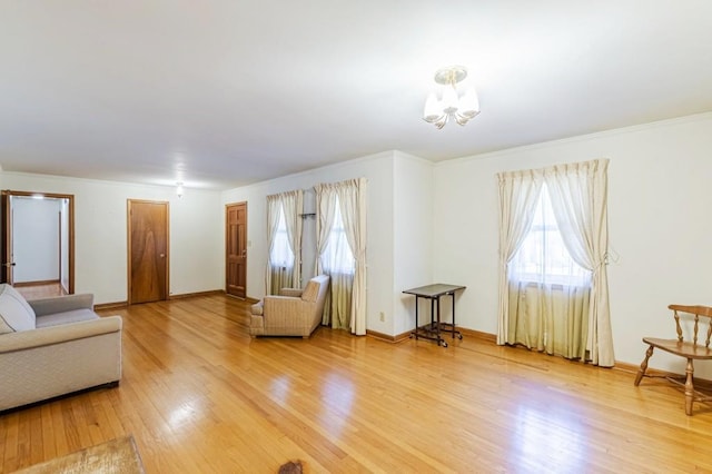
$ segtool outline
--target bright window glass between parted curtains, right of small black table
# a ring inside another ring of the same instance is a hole
[[[536,205],[534,221],[524,243],[510,263],[515,282],[589,286],[591,273],[578,266],[562,239],[546,185]]]

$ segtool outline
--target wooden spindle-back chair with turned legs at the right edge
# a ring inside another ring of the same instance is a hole
[[[682,305],[670,305],[668,306],[673,310],[673,316],[675,318],[675,328],[678,329],[678,338],[676,339],[657,339],[654,337],[643,337],[643,342],[649,345],[647,350],[645,352],[645,359],[641,364],[641,368],[637,371],[637,376],[635,377],[635,386],[640,385],[643,377],[662,377],[666,378],[670,382],[682,385],[685,388],[685,413],[688,415],[692,415],[692,403],[693,402],[711,402],[712,396],[704,395],[694,389],[694,367],[692,365],[692,361],[709,361],[712,359],[712,348],[710,348],[710,338],[712,337],[712,307],[709,306],[682,306]],[[692,325],[692,339],[688,338],[688,340],[683,337],[683,325],[681,324],[680,313],[685,313],[688,315],[692,315],[692,317],[685,317],[683,319],[690,319]],[[700,329],[704,332],[704,327],[706,325],[706,337],[704,339],[704,344],[702,342],[698,343],[698,334]],[[685,368],[686,377],[685,382],[681,382],[671,376],[666,375],[646,375],[645,371],[647,369],[647,359],[653,355],[653,349],[657,347],[662,350],[669,352],[670,354],[678,355],[680,357],[684,357],[688,359],[688,366]]]

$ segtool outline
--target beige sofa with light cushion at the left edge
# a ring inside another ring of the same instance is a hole
[[[0,412],[118,385],[121,324],[99,317],[92,295],[27,302],[0,285]]]

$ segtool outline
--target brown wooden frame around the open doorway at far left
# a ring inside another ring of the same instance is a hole
[[[3,260],[6,260],[7,263],[10,261],[10,247],[12,244],[12,219],[11,219],[11,214],[12,214],[12,207],[11,207],[11,201],[10,201],[10,197],[11,196],[20,196],[20,197],[43,197],[43,198],[52,198],[52,199],[67,199],[67,209],[69,213],[68,216],[68,221],[69,221],[69,229],[67,229],[68,231],[68,239],[69,241],[67,243],[67,248],[68,248],[68,254],[67,255],[67,266],[68,268],[68,274],[69,274],[69,288],[66,288],[67,292],[71,295],[75,293],[75,195],[62,195],[62,194],[57,194],[57,192],[37,192],[37,191],[14,191],[11,189],[3,189],[1,191],[1,199],[2,199],[2,224],[3,224],[3,229],[2,229],[2,236],[0,238],[0,256],[2,257]],[[60,260],[61,260],[61,253],[60,253]],[[60,263],[61,265],[61,263]],[[4,269],[2,271],[2,276],[6,276]],[[60,285],[61,285],[61,271],[59,275],[59,279],[60,279]]]

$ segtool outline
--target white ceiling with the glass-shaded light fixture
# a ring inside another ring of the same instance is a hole
[[[421,119],[469,69],[482,113]],[[709,0],[3,0],[0,166],[225,189],[712,110]]]

